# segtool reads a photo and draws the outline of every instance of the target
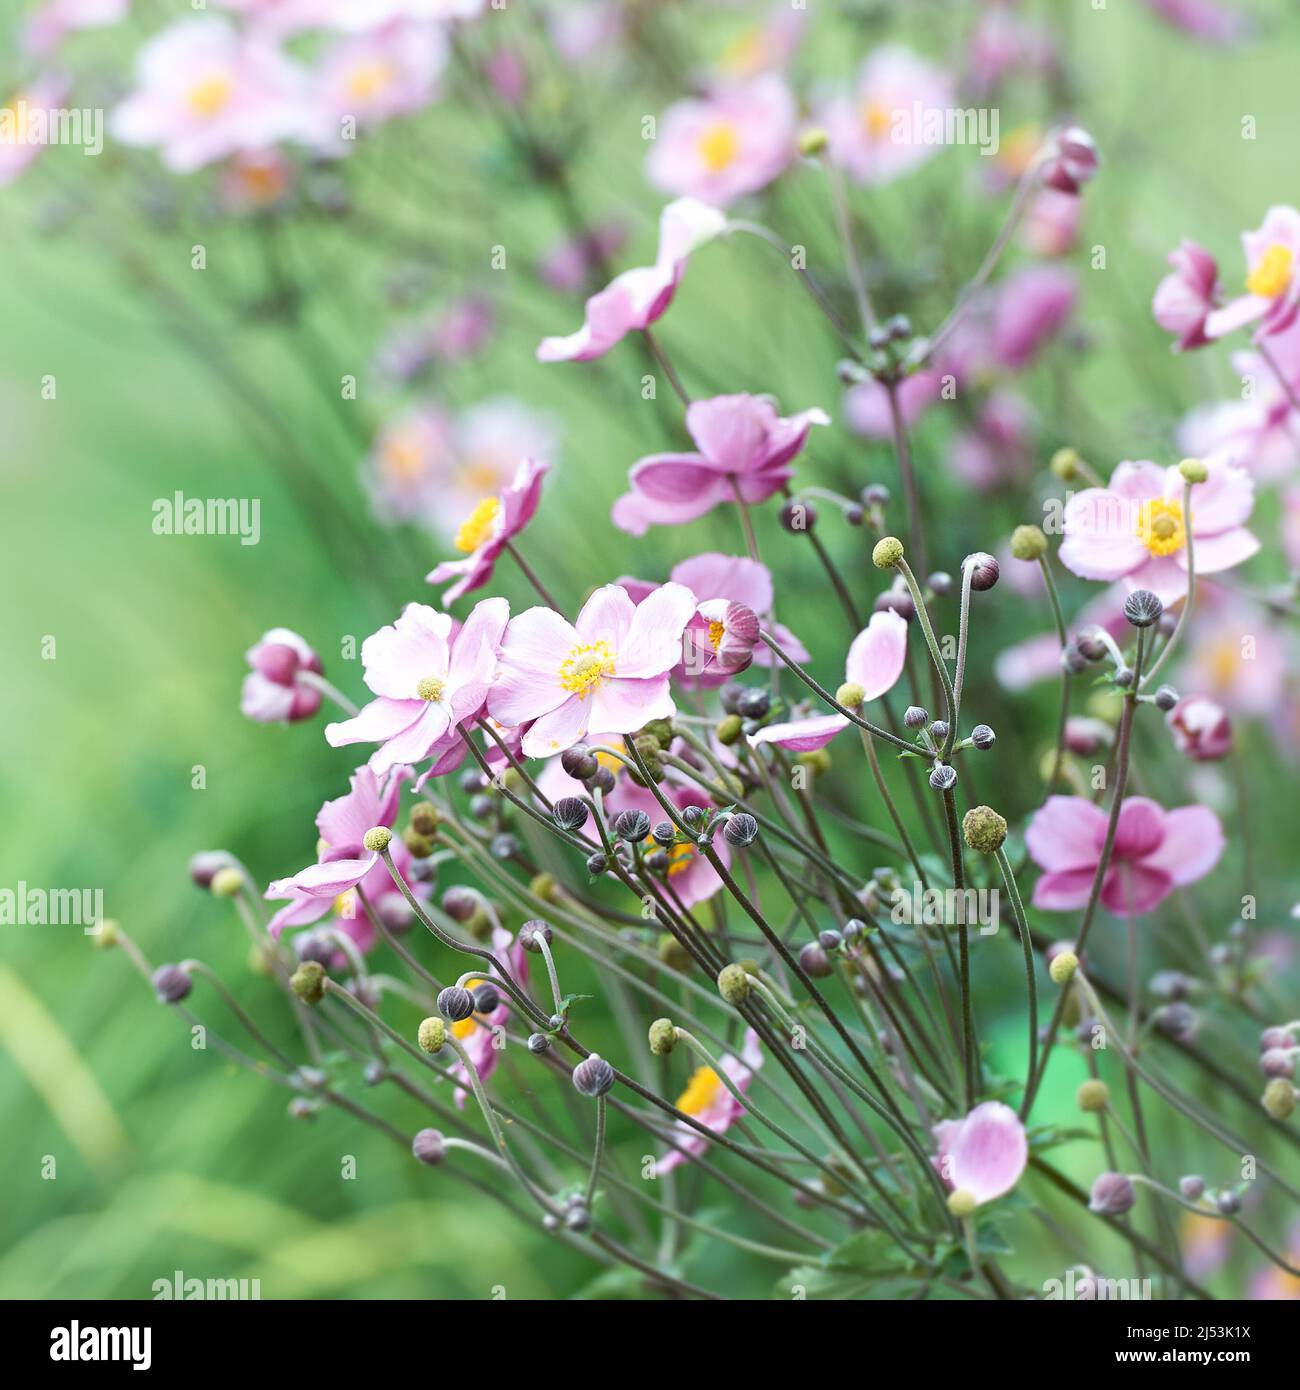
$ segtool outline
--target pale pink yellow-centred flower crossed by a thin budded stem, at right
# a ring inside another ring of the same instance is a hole
[[[1205,460],[1183,514],[1183,477],[1146,460],[1121,463],[1107,488],[1086,488],[1065,505],[1061,563],[1084,580],[1123,580],[1165,603],[1187,592],[1190,528],[1197,574],[1249,560],[1260,542],[1246,530],[1254,482],[1244,468]]]

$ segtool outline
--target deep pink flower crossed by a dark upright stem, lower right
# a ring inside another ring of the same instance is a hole
[[[1107,812],[1086,796],[1048,796],[1034,813],[1025,845],[1033,862],[1047,870],[1034,884],[1036,908],[1072,912],[1087,903],[1107,820]],[[1224,830],[1208,806],[1165,810],[1146,796],[1126,796],[1101,883],[1101,905],[1116,916],[1150,912],[1175,887],[1204,878],[1222,852]]]

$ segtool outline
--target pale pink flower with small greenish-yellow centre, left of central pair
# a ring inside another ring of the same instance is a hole
[[[457,726],[482,709],[509,617],[505,599],[484,599],[450,641],[448,613],[407,603],[396,623],[361,644],[375,699],[355,719],[325,726],[330,746],[380,744],[370,756],[377,773],[445,751]]]

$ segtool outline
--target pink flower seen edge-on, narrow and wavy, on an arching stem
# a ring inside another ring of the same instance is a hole
[[[694,197],[669,203],[659,218],[659,254],[653,265],[616,275],[587,300],[583,327],[567,338],[544,338],[538,361],[591,361],[603,357],[630,332],[649,328],[667,311],[691,253],[727,225],[726,214]]]

